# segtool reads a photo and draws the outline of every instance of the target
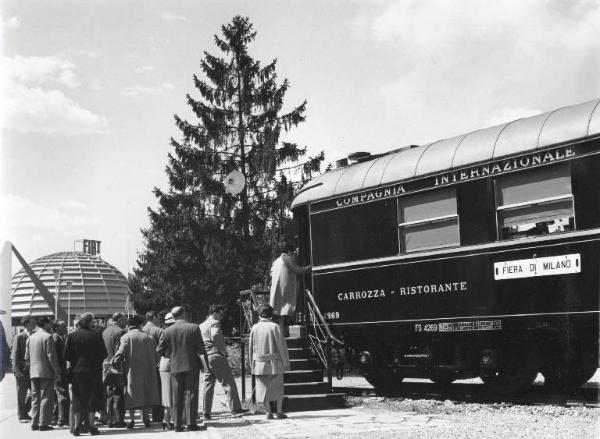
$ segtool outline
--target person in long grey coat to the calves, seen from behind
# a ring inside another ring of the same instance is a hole
[[[156,342],[140,329],[143,323],[144,320],[139,316],[129,317],[129,332],[121,337],[119,350],[113,358],[113,362],[124,361],[128,369],[125,388],[125,409],[129,409],[131,418],[128,429],[135,425],[135,409],[142,409],[144,425],[150,427],[150,410],[152,406],[160,404]]]

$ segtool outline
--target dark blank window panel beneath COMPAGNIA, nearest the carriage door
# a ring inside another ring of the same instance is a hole
[[[395,199],[312,214],[313,265],[397,255],[397,221]]]

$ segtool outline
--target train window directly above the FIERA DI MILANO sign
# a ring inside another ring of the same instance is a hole
[[[500,239],[575,229],[568,164],[499,178],[496,199]]]

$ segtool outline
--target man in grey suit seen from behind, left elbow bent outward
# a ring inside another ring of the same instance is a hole
[[[175,323],[163,331],[156,351],[171,360],[171,386],[175,431],[183,431],[185,411],[188,431],[205,430],[198,425],[198,386],[200,381],[200,356],[206,357],[202,334],[197,324],[185,320],[183,307],[171,310]],[[208,360],[207,360],[208,361]]]

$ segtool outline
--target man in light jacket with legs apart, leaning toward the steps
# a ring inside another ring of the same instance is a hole
[[[229,410],[231,410],[231,413],[244,413],[235,379],[227,362],[227,347],[221,332],[221,319],[225,315],[225,307],[223,305],[211,305],[208,313],[206,320],[200,324],[200,332],[204,340],[204,348],[208,355],[210,368],[204,375],[204,419],[210,419],[217,380],[229,396]]]

